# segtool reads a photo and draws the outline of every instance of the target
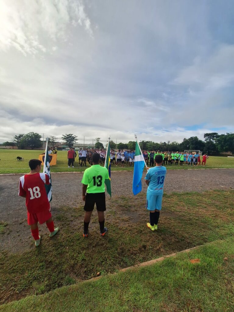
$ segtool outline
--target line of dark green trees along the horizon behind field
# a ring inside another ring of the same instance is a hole
[[[95,148],[104,148],[103,144],[100,142],[101,138],[95,138]],[[49,144],[51,146],[55,145],[57,142],[55,136],[49,137]],[[64,144],[69,147],[77,143],[78,139],[75,134],[64,134],[62,135],[62,140]],[[42,146],[41,135],[35,132],[29,132],[27,134],[15,135],[12,142],[4,142],[2,145],[5,146],[17,146],[19,149],[25,149],[30,147],[31,149],[39,148]],[[111,149],[135,149],[135,141],[129,141],[128,143],[118,143],[110,141]],[[153,142],[153,141],[140,141],[140,147],[142,150],[148,151],[184,151],[184,150],[200,150],[207,151],[210,155],[217,155],[220,152],[231,152],[234,154],[234,134],[218,134],[217,132],[205,133],[204,141],[198,139],[197,136],[190,137],[188,139],[184,138],[181,143],[178,142]]]

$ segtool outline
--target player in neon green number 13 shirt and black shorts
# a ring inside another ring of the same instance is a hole
[[[105,233],[107,232],[107,228],[104,227],[105,223],[104,211],[106,210],[105,180],[109,179],[109,173],[105,167],[100,166],[100,154],[94,153],[92,155],[92,161],[93,165],[85,170],[81,181],[81,183],[83,183],[82,198],[83,201],[85,202],[83,237],[88,237],[90,217],[95,204],[98,213],[100,234],[101,236],[104,236]]]

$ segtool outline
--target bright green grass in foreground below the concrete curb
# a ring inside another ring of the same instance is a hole
[[[107,252],[106,252],[107,253]],[[224,258],[227,257],[227,260]],[[189,260],[200,259],[192,264]],[[234,239],[2,305],[2,312],[232,312]],[[69,282],[69,280],[68,280]]]

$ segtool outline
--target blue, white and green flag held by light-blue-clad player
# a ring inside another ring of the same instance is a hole
[[[132,191],[134,195],[140,193],[142,190],[141,178],[144,166],[146,166],[139,143],[137,141],[137,137],[135,138],[136,138],[136,148],[135,148],[133,183],[132,183]]]

